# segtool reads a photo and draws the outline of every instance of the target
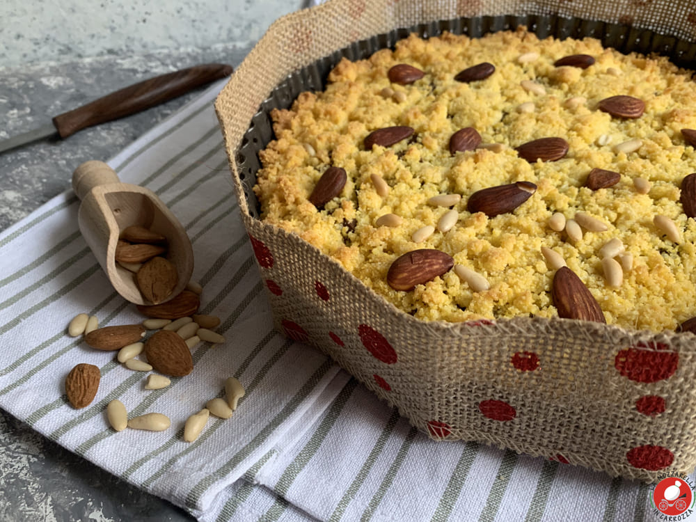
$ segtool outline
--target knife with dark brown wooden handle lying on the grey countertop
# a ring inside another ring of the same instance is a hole
[[[49,136],[65,139],[86,127],[118,120],[118,118],[125,118],[125,116],[150,109],[214,80],[228,77],[230,74],[232,74],[230,65],[205,63],[140,81],[79,106],[77,109],[58,114],[52,118],[52,122],[37,129],[0,141],[0,153]]]

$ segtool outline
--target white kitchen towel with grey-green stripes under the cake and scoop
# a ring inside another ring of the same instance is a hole
[[[215,84],[111,159],[124,182],[155,191],[193,243],[201,309],[227,342],[193,349],[194,370],[161,390],[66,326],[141,322],[110,287],[64,193],[0,235],[0,406],[72,452],[203,521],[517,521],[658,519],[652,487],[477,443],[435,442],[314,349],[274,331],[212,102]],[[69,173],[66,173],[69,175]],[[94,402],[73,409],[64,381],[100,367]],[[237,377],[246,396],[193,443],[186,418]],[[164,432],[106,422],[159,412]],[[691,477],[693,483],[693,477]],[[686,519],[685,519],[686,520]],[[695,515],[696,520],[696,515]]]

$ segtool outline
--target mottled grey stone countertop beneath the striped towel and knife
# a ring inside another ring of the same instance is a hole
[[[249,48],[219,46],[145,56],[0,68],[0,139],[157,74],[201,63],[236,68]],[[200,93],[134,116],[0,154],[0,230],[70,189],[83,161],[106,161]],[[0,410],[0,520],[189,521],[191,516],[47,440]]]

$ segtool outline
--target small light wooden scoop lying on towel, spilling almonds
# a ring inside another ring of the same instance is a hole
[[[72,173],[72,189],[82,200],[77,214],[80,232],[116,292],[132,303],[153,304],[143,298],[134,274],[114,258],[120,233],[134,225],[158,232],[167,239],[166,258],[176,267],[178,283],[164,301],[184,290],[193,272],[191,240],[154,192],[121,183],[116,172],[103,161],[86,161],[78,166]]]

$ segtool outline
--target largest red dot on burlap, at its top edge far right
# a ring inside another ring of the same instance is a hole
[[[651,383],[668,379],[677,371],[679,354],[667,348],[661,342],[626,348],[616,354],[614,367],[626,379],[635,382]]]

